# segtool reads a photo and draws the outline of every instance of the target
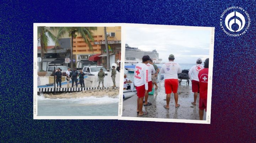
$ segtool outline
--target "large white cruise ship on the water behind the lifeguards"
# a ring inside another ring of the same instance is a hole
[[[149,55],[149,57],[153,60],[153,63],[162,63],[162,59],[159,58],[159,53],[156,50],[153,51],[143,51],[139,50],[135,47],[130,47],[126,44],[125,51],[125,63],[139,63],[142,62],[142,57],[145,55]]]

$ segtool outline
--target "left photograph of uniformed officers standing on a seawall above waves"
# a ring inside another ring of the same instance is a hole
[[[121,26],[39,25],[34,114],[117,116]]]

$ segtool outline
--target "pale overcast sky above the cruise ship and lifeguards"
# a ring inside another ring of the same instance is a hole
[[[127,27],[126,33],[126,44],[144,51],[156,49],[162,62],[168,62],[170,54],[177,63],[209,58],[210,30]]]

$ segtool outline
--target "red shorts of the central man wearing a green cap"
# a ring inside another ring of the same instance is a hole
[[[178,90],[178,79],[165,79],[165,93],[171,94],[177,93]]]

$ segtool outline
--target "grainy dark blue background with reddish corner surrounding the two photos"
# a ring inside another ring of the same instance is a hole
[[[1,1],[1,142],[255,141],[255,2]],[[230,37],[219,20],[249,12],[249,32]],[[211,124],[33,120],[33,23],[146,23],[215,27]]]

